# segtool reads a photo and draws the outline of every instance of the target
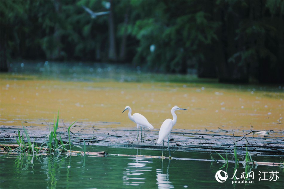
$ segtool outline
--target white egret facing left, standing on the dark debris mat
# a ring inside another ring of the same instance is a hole
[[[140,113],[134,113],[133,116],[131,115],[131,108],[129,106],[125,107],[125,110],[129,110],[128,112],[128,117],[129,119],[137,124],[137,140],[138,142],[138,137],[139,137],[139,126],[141,127],[141,142],[142,142],[142,127],[148,128],[148,129],[154,129],[153,125],[151,125],[146,117],[142,116]],[[125,111],[123,110],[123,112]],[[122,113],[123,113],[122,112]]]

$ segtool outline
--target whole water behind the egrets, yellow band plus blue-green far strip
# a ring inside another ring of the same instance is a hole
[[[175,128],[283,130],[282,85],[220,84],[129,65],[47,61],[13,63],[0,79],[1,125],[47,125],[59,110],[67,123],[133,128],[121,113],[129,105],[160,128],[178,105],[188,111],[176,112]]]

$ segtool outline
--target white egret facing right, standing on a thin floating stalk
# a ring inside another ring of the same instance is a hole
[[[183,108],[179,108],[177,106],[172,107],[171,113],[172,113],[172,117],[173,119],[166,119],[159,131],[159,138],[158,138],[158,144],[161,144],[163,141],[163,148],[162,148],[162,159],[164,158],[163,156],[163,150],[164,150],[164,139],[168,136],[168,148],[169,148],[169,159],[172,159],[171,157],[171,153],[170,153],[170,145],[169,145],[169,140],[170,140],[170,133],[172,130],[172,127],[175,125],[176,123],[176,114],[175,114],[175,110],[187,110],[187,109],[183,109]]]

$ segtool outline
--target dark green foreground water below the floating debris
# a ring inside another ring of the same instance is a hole
[[[180,152],[172,150],[173,157],[196,160],[169,160],[114,156],[111,154],[138,154],[160,156],[161,150],[121,149],[87,146],[88,151],[106,151],[108,155],[98,156],[52,156],[24,154],[1,154],[1,188],[283,188],[283,168],[273,166],[253,166],[254,183],[232,184],[234,163],[227,165],[211,162],[207,152]],[[165,151],[167,155],[167,151]],[[224,154],[223,154],[224,155]],[[213,159],[220,160],[216,153]],[[238,156],[243,160],[243,156]],[[280,162],[282,156],[252,156],[262,162]],[[234,160],[233,154],[228,154]],[[203,161],[201,161],[203,160]],[[206,160],[206,161],[204,161]],[[215,179],[218,170],[226,171],[228,178],[219,183]],[[260,172],[259,172],[260,171]],[[271,177],[273,171],[276,172]],[[242,181],[245,168],[239,164],[236,181]],[[267,172],[267,173],[263,173]],[[259,176],[260,174],[260,176]],[[264,174],[266,174],[264,179]],[[277,178],[277,176],[279,178]],[[271,181],[269,181],[271,177]],[[277,179],[277,180],[275,180]],[[275,180],[275,181],[273,181]]]

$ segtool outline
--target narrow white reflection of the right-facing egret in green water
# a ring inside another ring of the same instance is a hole
[[[175,188],[172,182],[170,182],[170,174],[169,174],[169,168],[170,168],[170,162],[169,160],[168,167],[166,174],[164,174],[164,169],[163,169],[163,161],[162,161],[162,168],[161,169],[156,169],[157,173],[157,185],[159,189],[169,189],[169,188]]]

